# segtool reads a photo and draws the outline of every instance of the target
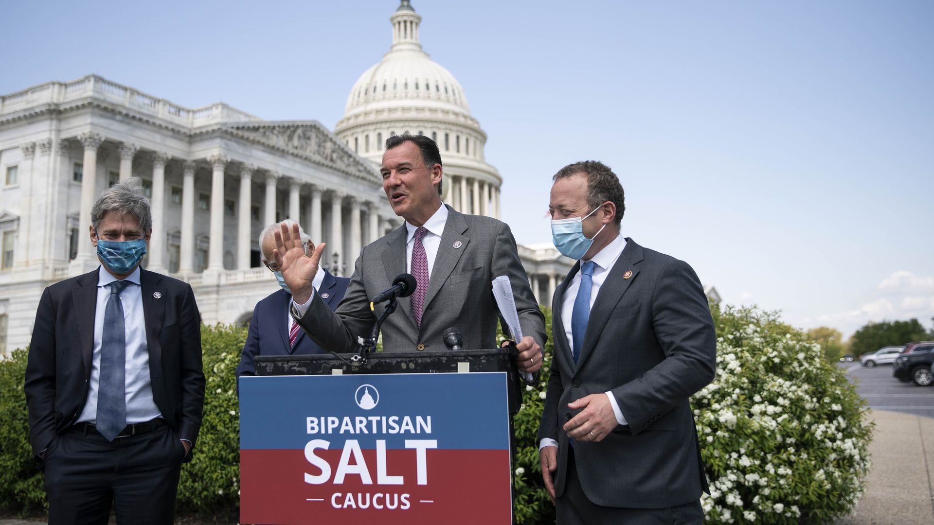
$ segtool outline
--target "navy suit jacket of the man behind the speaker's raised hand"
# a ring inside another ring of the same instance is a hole
[[[318,295],[332,310],[337,308],[344,292],[347,291],[347,277],[334,277],[327,270]],[[304,333],[298,331],[295,347],[289,346],[289,305],[291,294],[285,290],[277,290],[262,299],[253,308],[253,320],[249,323],[247,342],[243,346],[243,355],[240,364],[236,367],[237,376],[254,376],[256,369],[253,358],[258,355],[285,356],[299,354],[324,353],[318,345]]]

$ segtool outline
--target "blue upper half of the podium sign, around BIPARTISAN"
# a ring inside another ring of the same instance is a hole
[[[372,449],[384,439],[392,449],[435,439],[441,449],[507,449],[506,389],[504,372],[243,376],[240,448],[303,449],[323,439],[334,449],[356,439]]]

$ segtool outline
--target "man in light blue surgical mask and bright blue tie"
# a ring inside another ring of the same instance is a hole
[[[686,262],[619,234],[602,163],[554,177],[552,240],[579,261],[555,291],[539,450],[558,522],[696,523],[707,480],[688,397],[714,378],[714,322]]]

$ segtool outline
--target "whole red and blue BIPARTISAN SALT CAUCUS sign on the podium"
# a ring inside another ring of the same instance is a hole
[[[510,523],[503,372],[240,378],[241,523]]]

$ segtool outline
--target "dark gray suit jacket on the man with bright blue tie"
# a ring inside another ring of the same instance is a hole
[[[564,336],[564,291],[555,291],[554,359],[538,439],[559,443],[555,490],[564,491],[568,435],[561,427],[576,399],[612,391],[628,425],[599,443],[574,442],[587,498],[604,506],[663,508],[697,501],[708,490],[688,397],[714,379],[716,336],[701,282],[686,262],[626,248],[590,310],[575,364]],[[626,278],[627,272],[631,272]]]

